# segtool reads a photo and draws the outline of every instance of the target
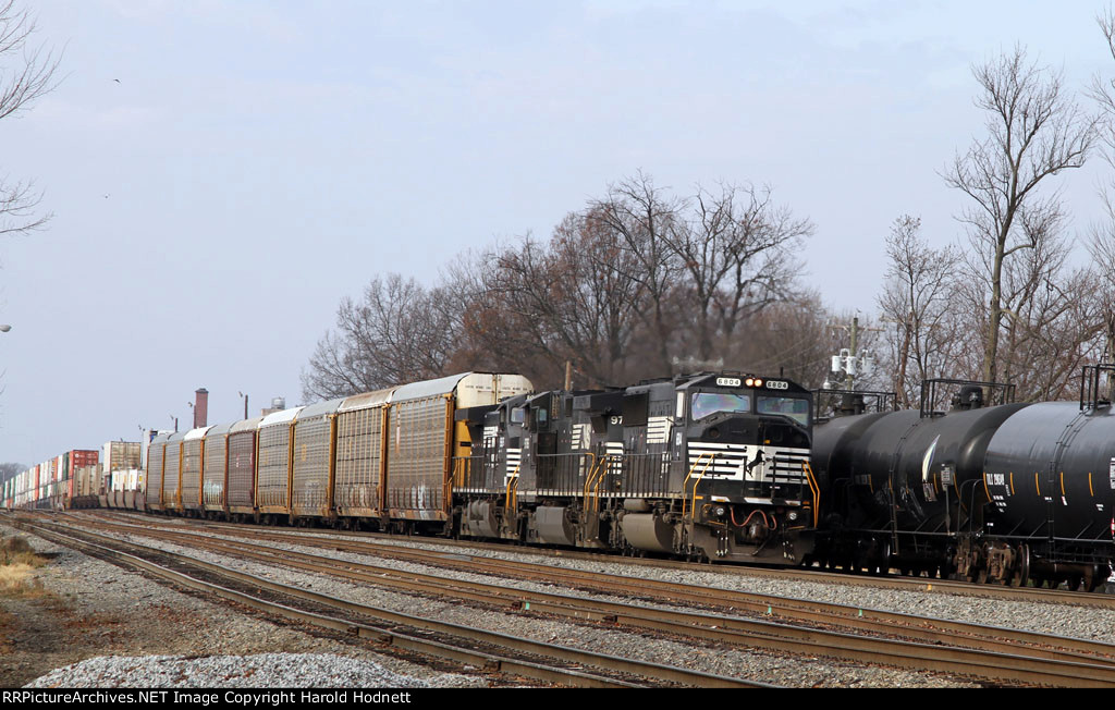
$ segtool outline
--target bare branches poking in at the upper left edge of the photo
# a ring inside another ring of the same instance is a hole
[[[16,6],[0,2],[0,119],[27,110],[57,86],[58,58],[30,48],[35,18]],[[41,195],[31,181],[0,179],[0,234],[21,234],[41,227],[49,214],[36,216]]]

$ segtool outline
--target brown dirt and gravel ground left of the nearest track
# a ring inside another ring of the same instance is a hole
[[[428,687],[486,687],[481,674],[446,673],[406,659],[384,655],[365,643],[308,633],[303,628],[250,615],[220,602],[209,602],[148,580],[143,575],[60,547],[33,535],[22,534],[0,522],[0,533],[23,535],[36,552],[51,556],[49,564],[35,571],[31,594],[0,596],[0,687],[20,687],[70,668],[64,687],[104,688],[152,687],[154,681],[139,669],[146,659],[187,658],[197,673],[212,678],[205,668],[210,659],[244,658],[245,670],[227,671],[231,685],[249,669],[252,658],[271,658],[260,670],[278,675],[249,678],[248,685],[262,687],[263,678],[274,687],[333,687],[320,672],[322,661],[298,662],[299,658],[347,659],[338,668],[355,669],[372,687],[378,674],[408,678],[408,683]],[[297,654],[297,655],[291,655]],[[94,667],[83,661],[98,660]],[[287,658],[290,663],[277,659]],[[214,668],[226,668],[233,660]],[[115,668],[116,670],[112,670]],[[360,670],[363,669],[363,670]],[[380,669],[380,670],[377,670]],[[185,673],[186,685],[194,682]],[[49,681],[56,683],[58,681]],[[403,681],[399,681],[400,683]],[[45,685],[42,685],[45,687]],[[166,687],[171,687],[167,684]],[[417,685],[408,685],[417,687]]]

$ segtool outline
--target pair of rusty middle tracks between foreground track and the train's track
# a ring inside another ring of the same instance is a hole
[[[83,516],[85,517],[85,516]],[[118,534],[132,534],[130,524],[83,521]],[[836,604],[755,595],[641,581],[638,595],[644,599],[712,603],[729,611],[747,611],[764,616],[745,619],[723,612],[650,609],[646,605],[588,600],[564,594],[507,589],[505,584],[462,582],[434,575],[400,573],[390,567],[271,546],[225,541],[210,535],[166,529],[145,522],[144,535],[164,542],[202,547],[262,564],[282,564],[304,572],[329,574],[350,582],[403,589],[427,595],[452,596],[496,604],[534,613],[546,613],[609,623],[642,632],[699,639],[704,642],[759,649],[775,653],[823,655],[859,663],[896,665],[908,670],[956,673],[996,683],[1101,687],[1115,684],[1115,646],[1088,641],[1007,629],[943,622],[889,612],[875,612]],[[209,527],[209,526],[206,526]],[[404,558],[410,562],[454,566],[472,572],[542,578],[576,589],[593,589],[630,595],[630,578],[600,573],[561,570],[532,563],[465,557],[452,553],[414,551],[361,541],[313,539],[306,535],[278,534],[231,526],[221,529],[260,542],[282,542],[332,551],[356,552]],[[307,539],[309,537],[309,539]],[[297,539],[292,539],[297,538]],[[385,547],[387,549],[385,549]],[[833,628],[841,629],[840,631]],[[854,633],[849,633],[852,631]],[[869,635],[870,634],[870,635]]]

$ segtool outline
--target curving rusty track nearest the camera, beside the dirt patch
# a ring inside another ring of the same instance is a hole
[[[76,547],[94,556],[138,567],[161,580],[200,591],[206,597],[219,596],[270,615],[368,638],[407,651],[478,665],[502,674],[589,688],[772,687],[767,683],[738,678],[714,675],[700,671],[517,639],[482,629],[347,602],[326,594],[227,570],[177,553],[106,537],[89,531],[77,531],[69,525],[59,525],[52,522],[29,522],[26,518],[13,521],[11,524],[56,544]],[[125,553],[122,548],[132,549],[135,554]],[[165,564],[154,563],[151,558],[169,561],[171,565],[177,570],[169,568]],[[217,584],[212,581],[214,578],[223,578],[225,582]],[[265,594],[261,594],[261,592],[265,592]],[[330,610],[329,614],[331,615],[322,613],[323,609]],[[357,621],[357,619],[367,617],[376,619],[381,625],[370,626]],[[423,635],[436,636],[438,641],[420,638]]]

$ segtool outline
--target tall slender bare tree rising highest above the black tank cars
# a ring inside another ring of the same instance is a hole
[[[960,220],[989,270],[982,377],[995,380],[1005,264],[1055,233],[1061,218],[1059,195],[1039,187],[1046,178],[1084,165],[1097,124],[1076,105],[1060,74],[1030,62],[1021,47],[972,72],[981,90],[976,105],[988,113],[988,136],[958,154],[944,179],[975,203]]]

